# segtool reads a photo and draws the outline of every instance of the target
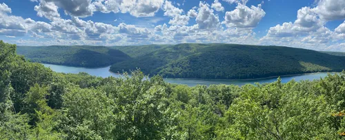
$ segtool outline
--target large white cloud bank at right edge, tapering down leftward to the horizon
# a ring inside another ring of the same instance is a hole
[[[294,23],[272,27],[260,40],[313,50],[341,50],[337,44],[344,43],[345,23],[334,32],[325,27],[327,21],[339,19],[345,19],[345,1],[319,0],[314,8],[299,9]]]

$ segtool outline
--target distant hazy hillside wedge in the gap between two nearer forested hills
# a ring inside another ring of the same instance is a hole
[[[150,52],[155,52],[156,50],[159,50],[161,48],[166,48],[168,46],[172,45],[144,45],[144,46],[112,46],[110,48],[114,48],[117,50],[121,50],[122,52],[125,52],[130,57],[141,57],[145,54],[148,54]]]

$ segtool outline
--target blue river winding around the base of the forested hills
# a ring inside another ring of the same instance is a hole
[[[80,67],[71,67],[71,66],[60,66],[60,65],[52,65],[43,63],[44,66],[51,68],[55,72],[64,72],[64,73],[79,73],[79,72],[87,72],[90,75],[97,76],[97,77],[120,77],[119,74],[115,74],[109,71],[110,66],[104,68],[80,68]],[[335,72],[331,72],[334,74]],[[301,75],[294,75],[294,76],[287,76],[282,77],[282,82],[286,83],[292,79],[295,81],[300,80],[314,80],[319,79],[321,77],[326,77],[327,72],[317,72],[311,74],[301,74]],[[188,86],[197,86],[199,85],[206,85],[210,86],[212,84],[234,84],[238,86],[243,86],[247,83],[270,83],[276,81],[277,78],[266,78],[266,79],[247,79],[247,80],[214,80],[214,79],[170,79],[165,78],[164,81],[168,83],[179,83],[185,84]]]

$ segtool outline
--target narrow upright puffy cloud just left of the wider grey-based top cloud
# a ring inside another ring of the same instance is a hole
[[[212,29],[219,27],[219,17],[213,13],[208,3],[200,1],[198,14],[197,14],[197,25],[199,29]]]

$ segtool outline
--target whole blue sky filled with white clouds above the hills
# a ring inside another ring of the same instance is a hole
[[[0,0],[20,46],[239,43],[345,52],[345,0]]]

